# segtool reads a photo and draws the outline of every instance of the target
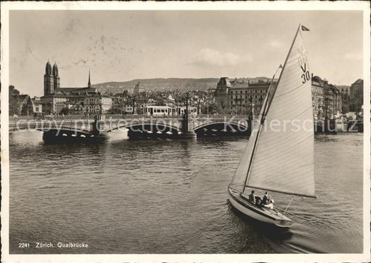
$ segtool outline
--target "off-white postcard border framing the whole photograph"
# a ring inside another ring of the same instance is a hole
[[[362,10],[364,120],[370,120],[370,3],[368,2],[2,2],[1,3],[1,253],[3,262],[370,262],[370,122],[364,122],[363,253],[361,254],[98,254],[9,255],[8,75],[9,10]],[[324,25],[325,26],[325,25]]]

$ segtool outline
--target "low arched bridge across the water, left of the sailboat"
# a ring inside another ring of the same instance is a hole
[[[45,141],[58,138],[96,140],[107,138],[113,131],[127,131],[130,138],[186,138],[187,136],[226,136],[249,134],[246,115],[97,115],[58,118],[10,118],[9,131],[35,129],[44,131]]]

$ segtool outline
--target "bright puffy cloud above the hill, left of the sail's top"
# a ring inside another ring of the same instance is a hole
[[[200,49],[189,64],[208,67],[230,67],[236,65],[239,61],[240,57],[230,52],[221,54],[221,52],[213,49]]]

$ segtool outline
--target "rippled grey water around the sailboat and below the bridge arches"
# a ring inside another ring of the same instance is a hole
[[[228,203],[245,137],[112,135],[102,144],[44,145],[38,131],[10,134],[11,254],[363,251],[363,134],[315,136],[318,198],[294,198],[287,215],[296,223],[279,232]],[[272,197],[281,209],[291,198]]]

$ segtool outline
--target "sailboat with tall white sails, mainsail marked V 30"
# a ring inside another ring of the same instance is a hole
[[[274,75],[228,186],[232,207],[282,228],[294,221],[276,208],[250,202],[248,194],[252,189],[261,189],[316,198],[311,74],[302,31],[309,29],[299,25],[285,63],[280,65],[278,81],[273,83]]]

